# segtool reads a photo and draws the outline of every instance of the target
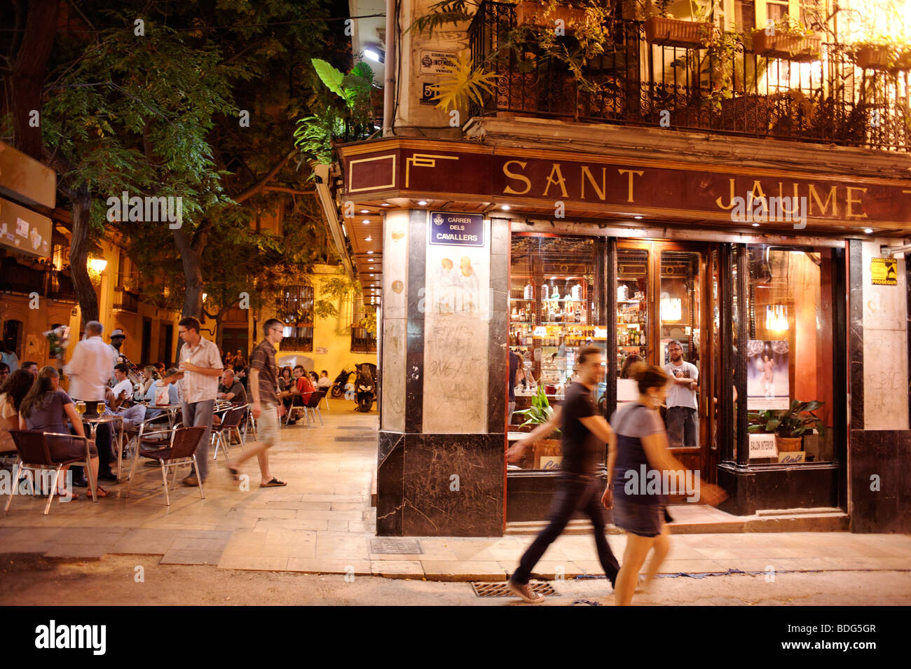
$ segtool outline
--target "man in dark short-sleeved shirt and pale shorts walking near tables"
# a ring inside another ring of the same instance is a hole
[[[253,349],[250,357],[250,392],[259,441],[245,451],[233,467],[228,468],[231,476],[237,479],[241,464],[255,455],[260,463],[261,488],[287,485],[271,475],[268,453],[268,450],[279,442],[279,413],[283,410],[278,400],[279,370],[275,364],[275,344],[281,341],[283,331],[284,326],[279,319],[269,319],[262,325],[265,339]]]

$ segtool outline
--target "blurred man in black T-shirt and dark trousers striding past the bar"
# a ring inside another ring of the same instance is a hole
[[[550,507],[550,523],[522,555],[518,569],[508,582],[509,590],[527,603],[544,602],[544,595],[531,592],[528,579],[548,546],[566,528],[573,512],[585,512],[591,519],[598,559],[611,586],[619,573],[617,558],[604,536],[602,485],[598,475],[601,444],[609,441],[611,430],[608,421],[598,414],[591,397],[591,390],[604,378],[603,365],[604,357],[597,346],[582,347],[578,353],[576,380],[568,386],[563,406],[554,411],[548,422],[507,451],[508,461],[519,461],[528,446],[544,439],[557,427],[562,433],[563,461],[557,494]]]

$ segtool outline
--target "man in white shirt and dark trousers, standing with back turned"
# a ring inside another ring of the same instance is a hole
[[[82,400],[87,403],[86,418],[97,417],[98,411],[104,411],[105,390],[107,380],[110,379],[111,368],[114,366],[111,348],[101,339],[104,326],[97,320],[86,323],[86,338],[78,341],[73,350],[73,358],[64,368],[69,375],[69,395],[73,401]],[[100,407],[97,406],[100,403]],[[86,425],[88,434],[88,425]],[[101,481],[117,481],[111,471],[111,430],[109,425],[98,425],[95,433],[95,445],[98,450],[98,479]],[[85,476],[78,477],[75,485],[79,485]]]

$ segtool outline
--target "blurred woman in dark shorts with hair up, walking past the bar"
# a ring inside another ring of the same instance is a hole
[[[626,551],[614,593],[614,603],[618,606],[632,603],[639,573],[649,552],[654,551],[645,573],[644,587],[655,578],[670,549],[668,526],[664,522],[665,495],[670,491],[656,493],[651,486],[647,488],[646,481],[656,475],[658,481],[687,479],[683,465],[668,452],[668,436],[658,413],[668,386],[667,373],[660,367],[646,367],[641,363],[630,371],[639,386],[639,400],[621,407],[610,419],[613,428],[608,455],[610,484],[601,498],[605,507],[613,509],[614,524],[627,532]],[[661,476],[663,471],[677,472],[678,477]],[[643,474],[646,474],[646,481],[639,481]],[[682,479],[679,474],[683,474]],[[702,483],[699,495],[711,505],[726,497],[711,483]]]

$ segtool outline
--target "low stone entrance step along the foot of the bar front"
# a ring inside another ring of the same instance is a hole
[[[841,509],[769,509],[752,516],[733,516],[703,504],[677,504],[668,507],[674,522],[672,534],[718,534],[724,532],[847,532],[847,514]],[[507,536],[537,534],[548,526],[547,521],[507,522]],[[564,534],[590,534],[589,520],[573,520]],[[609,534],[622,530],[608,525]]]

